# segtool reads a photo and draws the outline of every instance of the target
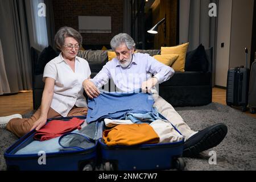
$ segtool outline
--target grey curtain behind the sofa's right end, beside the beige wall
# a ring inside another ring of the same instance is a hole
[[[209,4],[219,0],[180,0],[179,42],[189,42],[188,51],[203,44],[205,49],[213,47],[213,86],[215,85],[217,17],[209,16]],[[218,12],[218,10],[217,10]]]

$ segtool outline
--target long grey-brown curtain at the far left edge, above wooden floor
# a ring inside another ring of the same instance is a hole
[[[0,19],[3,61],[10,92],[30,90],[32,89],[30,39],[24,1],[1,0]]]

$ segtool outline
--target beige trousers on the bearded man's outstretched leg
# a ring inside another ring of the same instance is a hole
[[[185,140],[187,140],[192,135],[196,134],[195,131],[191,130],[191,128],[183,121],[179,113],[165,101],[162,97],[158,95],[157,92],[153,92],[152,97],[154,98],[154,105],[158,110],[158,113],[162,114],[168,121],[172,123],[176,127],[177,130],[183,135]]]

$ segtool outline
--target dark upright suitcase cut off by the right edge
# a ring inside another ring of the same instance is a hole
[[[256,112],[256,52],[255,52],[255,60],[253,64],[251,64],[248,105],[250,108],[250,113],[255,114]]]

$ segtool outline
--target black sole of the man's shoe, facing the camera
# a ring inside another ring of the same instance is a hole
[[[200,152],[216,147],[225,138],[228,128],[225,125],[217,126],[191,147],[184,148],[183,157],[195,157]]]

